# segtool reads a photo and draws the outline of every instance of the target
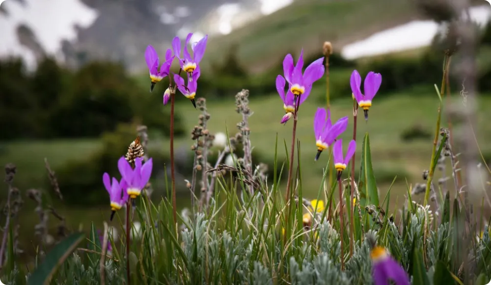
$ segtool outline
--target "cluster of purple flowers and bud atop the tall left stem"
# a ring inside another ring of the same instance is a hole
[[[194,108],[196,103],[194,97],[196,96],[197,84],[196,81],[200,75],[199,62],[203,58],[206,49],[206,43],[208,41],[208,35],[202,38],[197,43],[191,44],[191,50],[193,55],[188,52],[188,45],[191,41],[192,33],[189,33],[186,37],[186,43],[184,46],[184,57],[181,57],[181,40],[179,37],[175,37],[172,40],[172,50],[168,49],[165,52],[165,61],[159,69],[159,55],[152,46],[148,46],[145,51],[145,61],[150,73],[150,92],[152,92],[155,84],[170,74],[170,66],[172,61],[177,57],[181,70],[188,75],[188,84],[185,84],[184,79],[179,74],[174,74],[173,79],[176,82],[176,86],[181,93],[191,100]],[[169,102],[171,95],[171,87],[167,88],[164,92],[164,105]]]

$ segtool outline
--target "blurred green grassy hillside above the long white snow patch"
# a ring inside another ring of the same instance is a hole
[[[324,41],[339,51],[344,45],[385,28],[421,18],[409,0],[298,0],[292,5],[209,41],[207,58],[239,45],[239,59],[258,71],[287,52],[320,52]]]

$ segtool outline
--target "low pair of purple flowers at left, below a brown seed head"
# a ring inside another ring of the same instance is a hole
[[[114,217],[114,213],[128,202],[129,198],[136,199],[140,195],[141,190],[145,188],[145,185],[150,180],[152,166],[152,158],[142,164],[142,158],[136,157],[135,167],[132,167],[126,158],[122,156],[118,160],[118,169],[121,174],[119,181],[113,177],[111,182],[109,174],[104,173],[102,181],[109,192],[112,211],[110,220]]]

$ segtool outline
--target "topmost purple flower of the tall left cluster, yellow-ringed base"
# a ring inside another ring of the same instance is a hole
[[[206,42],[208,41],[208,35],[205,35],[204,38],[199,40],[197,43],[191,44],[191,49],[193,55],[188,52],[188,44],[191,40],[192,33],[189,33],[186,37],[186,44],[184,45],[184,58],[181,58],[181,40],[179,37],[175,37],[172,40],[172,49],[174,50],[174,54],[179,58],[179,64],[181,65],[182,70],[188,73],[189,79],[193,80],[192,77],[193,71],[198,67],[199,62],[203,58],[206,49]]]

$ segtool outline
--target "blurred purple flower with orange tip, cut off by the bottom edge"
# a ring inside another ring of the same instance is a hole
[[[409,285],[406,271],[392,259],[384,248],[376,246],[370,253],[372,258],[372,277],[375,285],[388,285],[389,280],[396,285]]]

